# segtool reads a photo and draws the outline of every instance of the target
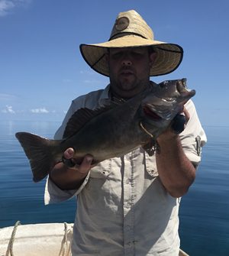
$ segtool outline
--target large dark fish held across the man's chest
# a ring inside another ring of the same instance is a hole
[[[121,157],[137,147],[150,154],[149,144],[156,141],[195,90],[186,87],[186,79],[167,80],[141,92],[121,105],[111,103],[101,109],[79,109],[69,119],[62,140],[41,138],[27,132],[16,138],[30,160],[34,181],[52,170],[67,148],[75,149],[76,163],[91,154],[92,164]]]

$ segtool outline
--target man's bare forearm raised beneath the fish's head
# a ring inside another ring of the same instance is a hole
[[[189,112],[184,108],[186,122],[189,121]],[[156,166],[163,186],[171,196],[184,195],[195,180],[195,167],[185,156],[179,134],[169,127],[156,139],[159,144],[159,154],[156,154]]]

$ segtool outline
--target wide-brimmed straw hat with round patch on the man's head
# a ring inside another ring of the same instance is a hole
[[[173,72],[182,61],[183,50],[178,44],[155,41],[153,31],[137,11],[121,12],[114,23],[109,41],[102,44],[81,44],[82,57],[98,73],[109,76],[105,53],[112,47],[153,46],[156,60],[150,76],[160,76]]]

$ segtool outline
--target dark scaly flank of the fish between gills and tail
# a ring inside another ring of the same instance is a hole
[[[73,138],[63,141],[63,151],[76,144],[76,159],[90,153],[97,163],[112,156],[120,157],[142,144],[142,138],[146,140],[148,136],[137,125],[140,99],[113,105],[92,118]]]

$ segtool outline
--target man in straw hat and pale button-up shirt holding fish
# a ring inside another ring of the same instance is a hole
[[[110,85],[74,99],[55,138],[62,138],[77,109],[124,102],[152,86],[150,76],[170,73],[182,61],[182,47],[154,41],[136,11],[118,15],[108,42],[82,44],[80,50],[92,69],[110,77]],[[64,152],[50,172],[45,202],[77,196],[73,255],[179,255],[180,197],[195,180],[206,141],[191,100],[184,114],[184,131],[178,135],[168,128],[160,134],[160,152],[153,157],[140,147],[96,166],[87,155],[78,167],[74,149]]]

